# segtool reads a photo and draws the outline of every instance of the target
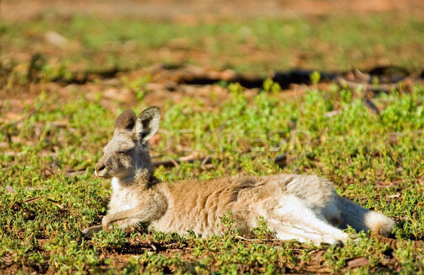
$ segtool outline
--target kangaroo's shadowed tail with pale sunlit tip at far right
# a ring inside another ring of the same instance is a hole
[[[352,201],[339,197],[338,209],[341,211],[341,227],[351,226],[357,231],[368,231],[387,236],[394,228],[394,221],[382,213],[365,209]]]

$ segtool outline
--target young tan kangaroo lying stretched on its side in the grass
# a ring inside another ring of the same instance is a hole
[[[101,226],[86,236],[119,227],[150,223],[163,232],[202,236],[220,234],[220,217],[232,211],[241,234],[252,233],[259,216],[280,240],[337,244],[348,240],[342,231],[377,230],[387,236],[394,221],[338,196],[331,182],[315,175],[235,175],[213,180],[159,182],[153,176],[148,140],[159,127],[160,110],[149,107],[137,117],[126,110],[114,122],[114,135],[95,165],[95,175],[112,179],[109,211]]]

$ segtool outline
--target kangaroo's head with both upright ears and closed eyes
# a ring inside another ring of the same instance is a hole
[[[148,140],[159,127],[160,110],[149,107],[136,117],[126,110],[114,122],[114,134],[95,165],[95,175],[120,182],[148,181],[153,174]],[[141,177],[141,178],[140,178]]]

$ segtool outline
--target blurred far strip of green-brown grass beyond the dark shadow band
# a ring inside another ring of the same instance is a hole
[[[424,62],[420,54],[424,50],[423,18],[376,13],[340,14],[326,23],[327,19],[257,18],[190,24],[98,16],[106,32],[93,18],[76,16],[3,22],[0,31],[8,66],[23,62],[28,66],[31,55],[40,54],[47,78],[58,71],[134,69],[159,62],[230,68],[261,76],[293,66],[346,71],[391,64],[420,69]],[[47,30],[63,35],[69,43],[52,45],[45,38]]]

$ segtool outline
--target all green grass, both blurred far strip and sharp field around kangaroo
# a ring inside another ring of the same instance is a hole
[[[143,66],[184,62],[261,75],[279,69],[326,21],[300,17],[189,25],[99,19]],[[422,18],[394,13],[335,16],[282,68],[343,71],[389,62],[417,69],[424,62],[422,23]],[[47,30],[69,44],[49,44]],[[220,83],[229,94],[223,102],[210,93],[208,107],[196,98],[163,104],[160,133],[151,144],[151,153],[164,160],[192,153],[212,159],[210,165],[161,166],[155,175],[165,182],[239,172],[320,175],[343,197],[394,218],[394,238],[406,241],[397,250],[367,233],[344,247],[271,241],[260,220],[254,228],[257,239],[242,240],[231,216],[223,217],[228,230],[222,237],[151,232],[143,225],[86,240],[81,230],[100,224],[110,199],[110,183],[94,176],[94,166],[125,105],[105,104],[100,80],[89,87],[59,87],[61,93],[52,92],[49,81],[139,64],[91,18],[2,22],[0,33],[0,87],[8,95],[0,112],[0,273],[424,272],[424,251],[413,242],[424,239],[423,84],[408,93],[377,95],[372,100],[382,112],[376,115],[357,91],[336,84],[324,90],[312,85],[290,98],[266,82],[248,101],[250,94],[237,83]],[[143,90],[148,78],[119,81],[119,87],[136,93],[131,102],[136,112],[148,107]],[[27,89],[35,86],[42,92],[27,101],[33,96]],[[17,108],[19,98],[23,106]],[[282,153],[287,164],[281,168],[273,159]],[[357,258],[365,262],[352,267]]]

